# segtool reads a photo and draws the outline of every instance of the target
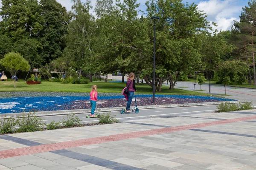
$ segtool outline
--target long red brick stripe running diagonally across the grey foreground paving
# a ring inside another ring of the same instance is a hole
[[[227,123],[241,122],[241,121],[252,120],[252,119],[256,119],[256,116],[227,119],[227,120],[218,120],[213,122],[197,123],[192,125],[181,125],[181,126],[167,127],[167,128],[161,128],[161,129],[144,130],[144,131],[123,133],[123,134],[110,135],[110,136],[101,136],[101,137],[89,138],[89,139],[79,139],[79,140],[68,141],[68,142],[58,142],[54,144],[43,144],[43,145],[32,146],[32,147],[21,147],[21,148],[11,149],[11,150],[1,150],[0,159],[67,149],[70,147],[79,147],[79,146],[84,146],[89,144],[96,144],[96,143],[99,144],[99,143],[105,143],[105,142],[111,142],[111,141],[119,141],[124,139],[131,139],[131,138],[137,138],[137,137],[143,137],[143,136],[149,136],[149,135],[155,135],[155,134],[161,134],[161,133],[170,133],[175,131],[189,130],[194,128],[207,127],[207,126],[223,125]]]

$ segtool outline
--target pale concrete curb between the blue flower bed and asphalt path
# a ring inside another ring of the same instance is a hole
[[[239,103],[240,101],[231,101],[230,103]],[[255,101],[256,102],[256,101]],[[179,107],[189,107],[189,106],[204,106],[204,105],[218,105],[221,102],[204,102],[204,103],[186,103],[186,104],[175,104],[175,105],[149,105],[149,106],[139,106],[140,110],[143,109],[153,109],[153,108],[179,108]],[[244,103],[244,102],[241,102]],[[124,107],[119,108],[98,108],[99,112],[110,112],[110,111],[120,111]],[[77,109],[77,110],[64,110],[64,111],[40,111],[35,112],[38,117],[43,116],[55,116],[55,115],[67,115],[67,114],[83,114],[90,113],[91,109]],[[17,116],[22,116],[23,114],[27,116],[30,112],[23,113],[2,113],[0,114],[0,119],[4,118],[17,118]]]

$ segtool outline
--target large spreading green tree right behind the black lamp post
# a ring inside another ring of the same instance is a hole
[[[156,82],[149,82],[161,91],[166,79],[170,81],[170,89],[174,88],[179,72],[192,72],[201,66],[200,34],[206,34],[209,23],[205,14],[192,3],[183,4],[181,0],[150,0],[146,3],[147,18],[161,16],[156,26]],[[148,20],[148,22],[150,22]],[[153,45],[153,27],[150,28]],[[153,48],[151,48],[153,49]],[[148,56],[153,56],[153,50]],[[151,58],[152,63],[152,58]],[[148,64],[149,65],[149,64]],[[151,67],[147,68],[145,80],[153,77]],[[176,79],[173,79],[173,75]]]

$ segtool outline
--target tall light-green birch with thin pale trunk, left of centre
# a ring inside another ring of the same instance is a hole
[[[92,82],[92,72],[97,68],[93,65],[93,44],[97,26],[95,18],[89,13],[91,8],[88,0],[85,3],[81,0],[74,1],[72,21],[66,35],[67,47],[64,50],[65,57],[72,58],[76,68],[79,68],[79,76],[81,70],[90,74],[90,82]]]

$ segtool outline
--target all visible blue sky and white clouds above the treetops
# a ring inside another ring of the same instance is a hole
[[[67,10],[71,10],[71,0],[57,0]],[[81,0],[85,1],[85,0]],[[95,6],[96,0],[91,0],[91,5]],[[146,0],[137,0],[140,3],[139,9],[145,11]],[[234,20],[239,21],[239,15],[241,14],[242,8],[248,5],[248,0],[183,0],[183,3],[188,2],[189,4],[195,3],[198,5],[198,9],[204,11],[207,14],[207,20],[217,23],[218,26],[213,26],[213,29],[218,31],[227,31],[231,29]],[[0,2],[0,6],[1,2]],[[93,14],[93,11],[91,11]],[[0,18],[1,20],[1,18]]]

